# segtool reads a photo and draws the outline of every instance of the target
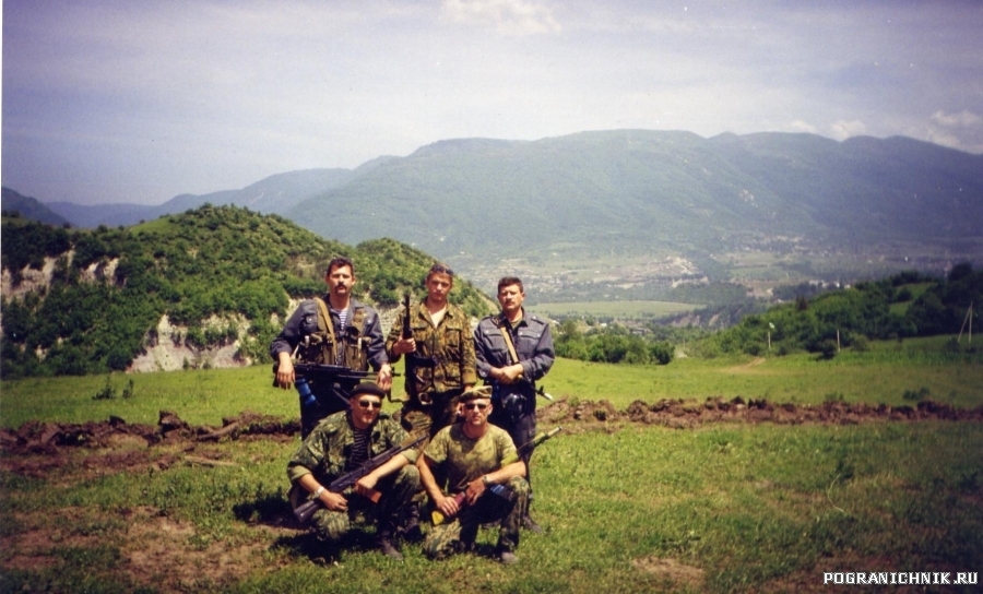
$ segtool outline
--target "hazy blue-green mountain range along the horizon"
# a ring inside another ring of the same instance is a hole
[[[615,130],[446,140],[356,169],[291,171],[159,206],[47,206],[92,227],[206,202],[282,214],[346,243],[392,237],[446,259],[710,254],[775,243],[979,254],[983,155],[901,136]]]

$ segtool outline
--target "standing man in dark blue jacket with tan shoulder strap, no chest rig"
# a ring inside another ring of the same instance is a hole
[[[514,276],[501,278],[498,281],[501,313],[487,316],[474,330],[477,375],[493,387],[493,412],[488,421],[508,431],[517,448],[532,441],[536,435],[536,380],[549,371],[556,358],[549,324],[526,313],[523,300],[522,281]],[[530,488],[531,456],[532,452],[522,455]],[[529,514],[523,518],[522,525],[542,532]]]

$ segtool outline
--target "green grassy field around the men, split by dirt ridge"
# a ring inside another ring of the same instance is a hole
[[[544,384],[618,408],[715,395],[912,404],[904,392],[923,387],[956,406],[983,404],[983,365],[939,344],[875,344],[821,363],[559,360]],[[129,379],[109,381],[119,392]],[[192,425],[244,409],[297,414],[267,367],[132,379],[126,400],[92,399],[106,377],[3,382],[2,424],[155,424],[163,408]],[[510,568],[477,555],[430,562],[412,546],[399,565],[369,550],[367,534],[325,556],[283,525],[296,437],[4,455],[0,592],[818,592],[824,572],[983,567],[979,424],[565,428],[533,462],[533,511],[547,533],[523,533]],[[494,538],[483,531],[479,544]]]

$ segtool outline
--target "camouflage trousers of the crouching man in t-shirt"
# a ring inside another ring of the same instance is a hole
[[[519,548],[519,526],[529,504],[529,483],[513,476],[507,484],[510,498],[485,491],[473,506],[465,506],[450,522],[434,526],[424,540],[423,551],[430,559],[442,559],[471,549],[482,524],[499,522],[498,548]]]

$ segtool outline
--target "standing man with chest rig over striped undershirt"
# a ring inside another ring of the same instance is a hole
[[[384,391],[392,387],[392,367],[386,355],[382,325],[376,310],[352,297],[355,286],[355,264],[347,258],[335,258],[328,264],[324,282],[327,298],[313,298],[300,304],[280,335],[270,345],[270,355],[277,361],[276,384],[288,390],[297,378],[292,353],[304,363],[340,365],[355,371],[367,371],[369,365],[378,372],[376,383]],[[306,381],[313,399],[300,401],[300,437],[306,438],[322,418],[344,411],[354,382]],[[301,387],[297,382],[297,389]]]

